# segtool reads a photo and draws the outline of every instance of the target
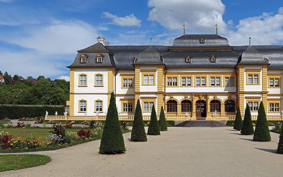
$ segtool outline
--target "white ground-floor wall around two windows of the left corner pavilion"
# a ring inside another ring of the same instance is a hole
[[[74,98],[74,116],[84,116],[84,113],[78,113],[79,112],[79,100],[84,99],[87,100],[87,111],[88,116],[96,116],[96,111],[94,111],[94,100],[102,100],[103,101],[103,112],[107,111],[108,109],[108,96],[105,94],[101,95],[90,95],[90,94],[80,94],[75,95]],[[100,113],[101,115],[105,115],[104,113]]]

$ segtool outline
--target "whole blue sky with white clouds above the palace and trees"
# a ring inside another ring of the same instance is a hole
[[[230,45],[283,44],[282,0],[0,0],[0,70],[69,79],[76,50],[110,45],[172,45],[186,34],[214,34]]]

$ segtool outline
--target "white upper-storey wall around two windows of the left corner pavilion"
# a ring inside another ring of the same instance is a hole
[[[79,74],[87,74],[87,87],[79,87]],[[94,75],[103,74],[103,87],[94,87]],[[108,91],[108,69],[75,69],[74,73],[75,93],[107,93]],[[114,82],[114,80],[113,80]],[[114,84],[114,83],[113,83]]]

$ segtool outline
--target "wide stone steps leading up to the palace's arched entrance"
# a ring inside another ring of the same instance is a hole
[[[229,127],[218,121],[206,121],[206,120],[194,120],[194,121],[184,121],[173,127]]]

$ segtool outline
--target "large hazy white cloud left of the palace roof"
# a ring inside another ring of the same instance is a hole
[[[97,42],[97,31],[80,20],[53,20],[40,27],[28,27],[25,34],[0,36],[3,41],[35,49],[41,54],[70,54]]]

